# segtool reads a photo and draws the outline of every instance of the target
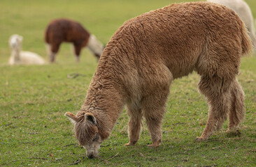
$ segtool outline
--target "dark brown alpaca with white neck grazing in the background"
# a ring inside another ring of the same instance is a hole
[[[97,58],[101,56],[104,50],[104,46],[94,35],[85,30],[78,22],[69,19],[52,20],[45,30],[45,42],[51,63],[55,61],[55,56],[62,42],[73,43],[78,62],[82,47],[88,47]]]

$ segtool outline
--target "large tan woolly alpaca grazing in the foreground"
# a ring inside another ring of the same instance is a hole
[[[209,104],[208,122],[197,141],[206,140],[229,116],[236,129],[245,114],[236,79],[241,56],[252,45],[233,10],[209,2],[174,3],[125,22],[104,49],[85,102],[74,122],[87,157],[111,134],[123,106],[130,117],[129,143],[135,145],[144,117],[151,147],[162,141],[162,118],[173,79],[196,71],[199,91]]]

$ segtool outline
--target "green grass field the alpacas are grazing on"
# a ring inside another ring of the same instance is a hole
[[[241,63],[246,118],[239,136],[227,134],[225,122],[208,141],[195,142],[206,125],[208,106],[197,91],[199,76],[194,73],[173,81],[159,148],[147,148],[151,141],[145,124],[138,144],[124,146],[129,141],[124,110],[97,159],[85,157],[64,117],[83,104],[97,58],[83,49],[76,63],[71,45],[63,44],[53,65],[8,66],[13,33],[24,37],[24,50],[47,59],[43,33],[51,19],[76,19],[106,44],[125,20],[173,2],[180,1],[1,0],[0,166],[256,166],[256,55]],[[256,18],[256,2],[247,2]],[[83,75],[69,79],[72,73]]]

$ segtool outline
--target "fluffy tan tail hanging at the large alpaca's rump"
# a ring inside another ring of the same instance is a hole
[[[243,24],[242,29],[241,29],[241,38],[242,38],[242,54],[247,55],[250,54],[251,51],[253,50],[253,44],[252,41],[250,40],[250,37],[248,35],[248,32],[246,30],[246,26]]]

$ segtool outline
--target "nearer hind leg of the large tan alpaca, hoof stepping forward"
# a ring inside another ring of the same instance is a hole
[[[208,120],[201,137],[197,141],[207,140],[216,129],[222,127],[223,122],[227,119],[227,113],[231,106],[231,92],[229,79],[218,77],[209,78],[202,76],[199,82],[199,91],[206,96],[208,101]]]

